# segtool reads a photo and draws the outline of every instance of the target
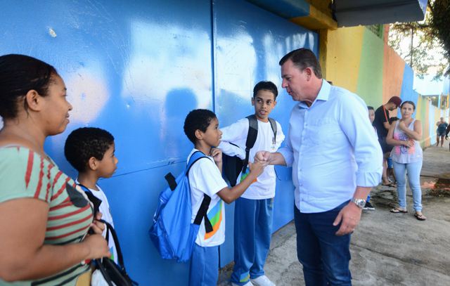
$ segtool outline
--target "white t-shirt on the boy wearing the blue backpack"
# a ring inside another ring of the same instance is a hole
[[[188,160],[195,151],[198,150],[193,149],[188,156]],[[202,158],[192,165],[191,170],[189,170],[189,186],[191,186],[192,203],[191,222],[195,220],[204,194],[211,197],[207,217],[210,219],[213,230],[211,233],[206,233],[205,221],[203,219],[195,243],[201,247],[221,245],[225,241],[225,206],[224,201],[217,195],[217,192],[228,186],[212,157]]]

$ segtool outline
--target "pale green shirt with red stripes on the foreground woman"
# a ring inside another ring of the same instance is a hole
[[[75,181],[28,148],[0,148],[0,186],[0,203],[34,197],[49,204],[44,244],[80,242],[94,219],[91,204]],[[49,278],[13,283],[0,279],[0,285],[75,285],[88,269],[80,262]]]

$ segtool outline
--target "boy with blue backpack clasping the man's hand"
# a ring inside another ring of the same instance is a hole
[[[219,245],[225,240],[225,208],[236,200],[250,186],[266,164],[249,164],[250,174],[241,183],[228,188],[221,176],[222,152],[215,148],[220,143],[221,131],[219,121],[210,110],[193,110],[184,121],[184,133],[194,144],[191,155],[200,151],[207,155],[192,165],[188,178],[191,187],[192,221],[200,208],[204,195],[211,201],[207,217],[212,225],[212,232],[206,233],[205,220],[200,224],[189,270],[189,285],[217,285],[219,276]]]

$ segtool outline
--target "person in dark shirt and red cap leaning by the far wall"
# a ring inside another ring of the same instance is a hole
[[[383,150],[383,186],[391,186],[391,182],[387,178],[387,158],[390,156],[392,146],[386,143],[387,131],[390,127],[390,115],[389,112],[396,110],[401,104],[401,98],[398,96],[392,96],[387,103],[381,105],[375,110],[375,119],[373,120],[373,126],[377,130],[378,142],[380,142],[381,149]]]

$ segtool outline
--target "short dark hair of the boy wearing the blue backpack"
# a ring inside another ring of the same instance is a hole
[[[206,132],[206,129],[210,126],[211,120],[214,118],[217,118],[217,116],[211,110],[192,110],[189,112],[188,116],[186,116],[186,119],[184,119],[184,134],[186,134],[189,140],[195,144],[195,142],[197,142],[195,131],[200,130]]]

